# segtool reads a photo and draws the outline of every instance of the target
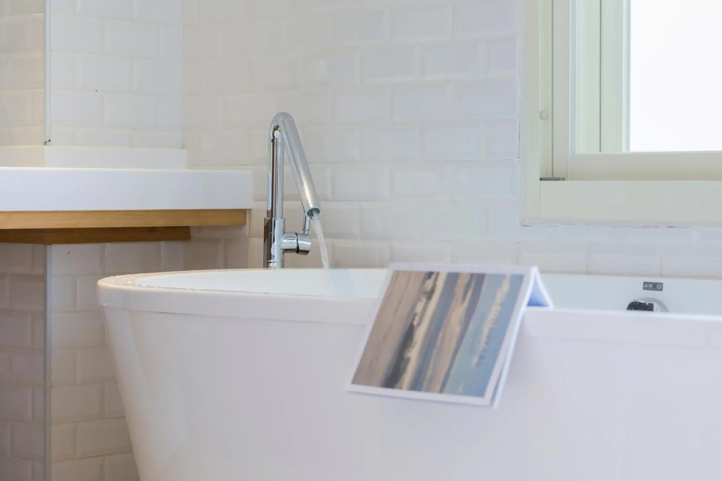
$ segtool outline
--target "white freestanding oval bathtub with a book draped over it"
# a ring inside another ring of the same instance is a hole
[[[544,276],[489,410],[346,392],[384,275],[101,281],[142,480],[722,479],[721,283],[665,280],[651,314],[623,309],[658,280]]]

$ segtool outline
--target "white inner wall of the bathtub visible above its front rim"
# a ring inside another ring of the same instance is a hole
[[[249,269],[239,275],[234,270],[155,274],[134,278],[138,286],[227,291],[245,294],[292,294],[296,296],[361,297],[379,294],[386,270],[331,270],[331,278],[321,270],[284,270],[272,274]],[[697,279],[612,277],[607,275],[544,274],[544,285],[557,309],[623,311],[634,299],[653,297],[662,301],[671,314],[722,316],[722,281]],[[663,291],[645,291],[644,283],[664,283]],[[329,299],[331,300],[331,299]],[[164,307],[163,309],[170,309]]]

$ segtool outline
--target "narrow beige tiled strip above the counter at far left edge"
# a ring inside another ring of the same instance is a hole
[[[0,0],[0,146],[43,145],[45,6]]]

